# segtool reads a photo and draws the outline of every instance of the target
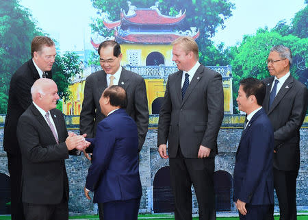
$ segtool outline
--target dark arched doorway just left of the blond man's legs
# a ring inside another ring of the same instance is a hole
[[[154,213],[175,211],[169,166],[162,167],[155,174],[153,181],[153,211]]]

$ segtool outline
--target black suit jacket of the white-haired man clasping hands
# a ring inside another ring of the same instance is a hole
[[[22,200],[31,204],[59,204],[68,199],[68,178],[64,159],[66,125],[60,110],[50,110],[59,145],[42,114],[32,103],[21,115],[17,125],[18,143],[23,161]]]

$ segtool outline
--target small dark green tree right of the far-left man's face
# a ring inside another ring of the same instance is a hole
[[[57,84],[60,99],[70,98],[70,90],[68,90],[70,80],[77,73],[81,73],[81,71],[79,56],[76,53],[66,52],[64,56],[55,57],[53,80]]]

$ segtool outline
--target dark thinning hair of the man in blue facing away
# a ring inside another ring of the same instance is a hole
[[[119,106],[120,108],[126,108],[127,106],[126,91],[121,86],[113,85],[107,87],[103,93],[103,97],[109,97],[112,106]]]

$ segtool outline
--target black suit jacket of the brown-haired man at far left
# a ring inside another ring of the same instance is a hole
[[[51,71],[47,73],[47,77],[51,78]],[[40,75],[32,59],[25,62],[12,75],[3,136],[4,150],[10,154],[21,154],[16,137],[16,126],[21,114],[32,103],[30,89],[39,78]]]

